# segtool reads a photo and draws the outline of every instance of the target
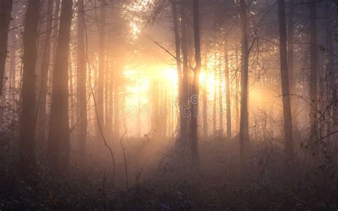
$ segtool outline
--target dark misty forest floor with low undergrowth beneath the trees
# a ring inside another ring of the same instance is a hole
[[[1,161],[0,210],[338,210],[338,182],[329,172],[282,173],[278,148],[257,147],[246,173],[239,173],[237,144],[200,144],[200,168],[182,153],[162,156],[129,150],[114,177],[108,170],[73,170],[69,177],[46,173],[19,177]],[[152,160],[133,163],[133,157]],[[152,159],[153,158],[153,159]],[[155,163],[155,164],[154,164]],[[128,185],[126,185],[128,182]],[[128,187],[128,188],[127,188]]]

